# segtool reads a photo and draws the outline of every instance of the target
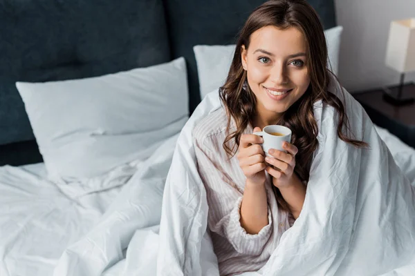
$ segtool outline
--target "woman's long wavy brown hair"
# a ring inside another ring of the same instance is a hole
[[[223,148],[233,157],[239,146],[239,139],[248,124],[252,125],[255,117],[256,98],[249,86],[243,89],[247,80],[243,70],[241,48],[249,48],[250,35],[266,26],[279,29],[295,27],[302,32],[306,40],[306,58],[310,85],[302,97],[284,112],[277,124],[293,131],[291,143],[298,148],[295,173],[302,181],[308,181],[313,152],[318,148],[317,123],[313,115],[313,103],[322,100],[338,111],[338,137],[358,148],[367,146],[364,141],[348,137],[351,133],[345,108],[340,99],[328,91],[330,75],[327,68],[327,46],[324,29],[315,10],[304,0],[271,0],[256,8],[239,32],[236,50],[225,84],[219,88],[219,95],[228,115],[228,130],[231,119],[234,119],[236,131],[227,133]],[[333,74],[334,76],[334,74]],[[337,78],[335,78],[338,81]],[[228,142],[234,141],[233,147]],[[288,210],[286,201],[277,188],[274,189],[280,208]]]

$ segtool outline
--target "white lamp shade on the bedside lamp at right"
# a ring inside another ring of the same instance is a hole
[[[401,73],[415,71],[415,18],[391,22],[386,65]]]

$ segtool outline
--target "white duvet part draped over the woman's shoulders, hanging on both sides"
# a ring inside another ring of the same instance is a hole
[[[334,90],[340,95],[340,88]],[[178,139],[163,199],[160,276],[219,275],[205,234],[208,204],[191,137],[201,118],[221,108],[215,94],[205,98]],[[371,149],[341,141],[335,110],[315,103],[320,147],[313,157],[302,213],[266,266],[246,275],[415,275],[415,179],[409,181],[398,168],[374,124],[348,92],[344,103],[356,139],[367,141]]]

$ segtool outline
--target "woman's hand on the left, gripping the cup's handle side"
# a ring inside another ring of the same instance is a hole
[[[254,128],[254,132],[261,131],[261,128]],[[264,139],[255,134],[243,134],[239,140],[239,148],[237,158],[239,166],[246,181],[250,184],[265,183],[265,156],[259,144],[264,143]]]

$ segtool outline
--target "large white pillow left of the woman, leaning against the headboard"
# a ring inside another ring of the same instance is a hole
[[[89,179],[145,159],[188,118],[183,57],[101,77],[16,86],[53,179]]]

